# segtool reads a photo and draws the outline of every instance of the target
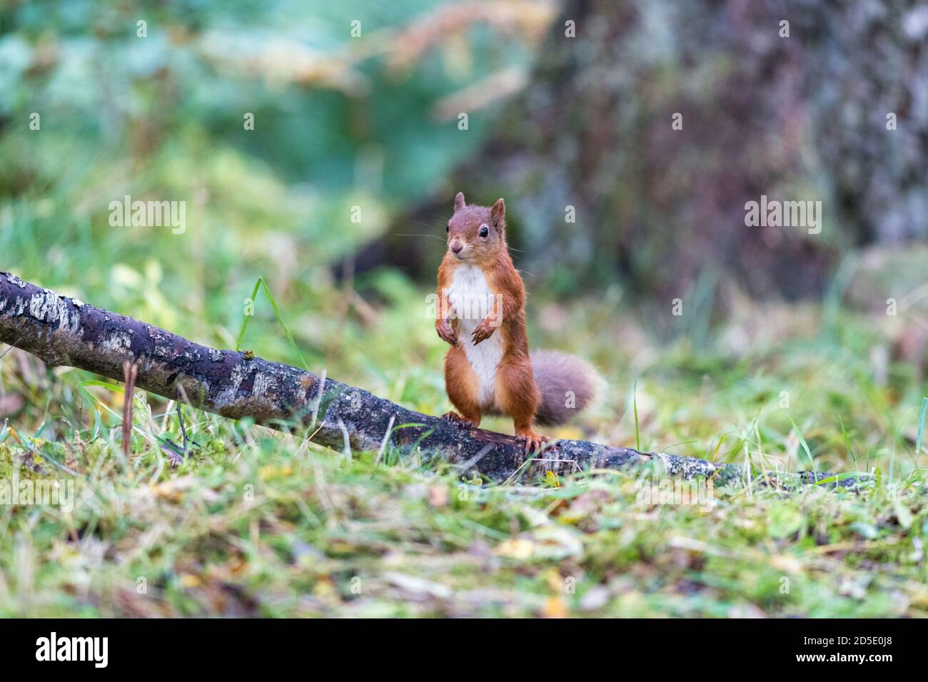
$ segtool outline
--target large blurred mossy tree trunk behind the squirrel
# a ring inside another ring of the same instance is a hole
[[[844,248],[925,234],[926,34],[916,0],[571,0],[494,137],[419,214],[504,196],[517,264],[561,290],[619,272],[679,296],[708,268],[816,294]],[[746,226],[761,195],[821,200],[821,233]]]

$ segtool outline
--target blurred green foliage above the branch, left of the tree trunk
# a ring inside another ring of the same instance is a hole
[[[442,11],[419,0],[5,3],[5,266],[226,344],[264,276],[296,326],[310,324],[327,310],[329,264],[479,145],[484,112],[459,131],[436,103],[531,57],[480,22],[446,45],[430,34]],[[413,43],[421,52],[403,61]],[[125,195],[187,201],[186,233],[110,226],[109,202]],[[440,223],[409,231],[430,229]],[[261,349],[286,357],[273,341]]]

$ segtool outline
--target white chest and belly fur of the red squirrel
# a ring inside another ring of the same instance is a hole
[[[477,375],[478,400],[482,407],[495,402],[496,367],[503,357],[503,341],[498,328],[493,336],[477,345],[470,335],[493,311],[495,299],[496,293],[487,285],[483,270],[475,265],[458,265],[451,278],[448,302],[452,315],[458,317],[458,342]]]

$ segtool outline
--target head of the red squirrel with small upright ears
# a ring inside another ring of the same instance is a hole
[[[483,264],[500,249],[506,250],[506,203],[492,207],[467,205],[464,194],[455,197],[455,212],[448,221],[448,253],[458,261]]]

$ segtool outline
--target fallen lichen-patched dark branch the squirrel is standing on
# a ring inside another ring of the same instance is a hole
[[[512,436],[459,429],[325,374],[318,377],[251,354],[202,346],[9,273],[0,273],[0,341],[48,365],[80,367],[114,380],[124,379],[123,363],[129,363],[137,366],[136,386],[165,398],[186,395],[190,405],[226,418],[252,418],[280,431],[307,430],[314,443],[334,450],[382,453],[389,444],[408,454],[419,448],[458,463],[462,474],[477,470],[497,482],[517,473],[619,469],[652,460],[688,479],[704,476],[722,483],[743,473],[734,465],[695,457],[573,440],[562,440],[557,450],[543,450],[526,462]],[[788,476],[808,483],[829,475]]]

